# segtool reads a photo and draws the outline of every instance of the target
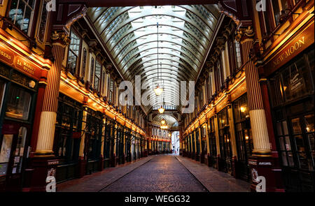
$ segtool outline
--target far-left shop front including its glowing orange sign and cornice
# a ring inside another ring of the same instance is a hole
[[[0,29],[0,191],[22,191],[38,89],[50,63]]]

